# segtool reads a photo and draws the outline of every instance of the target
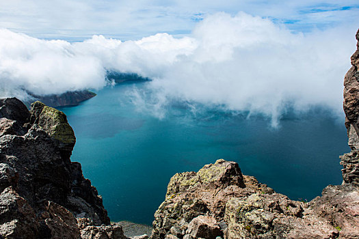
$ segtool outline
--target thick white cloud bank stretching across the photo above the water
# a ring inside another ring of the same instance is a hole
[[[289,106],[320,105],[339,114],[355,33],[355,27],[292,33],[243,12],[208,16],[183,38],[158,33],[69,43],[1,29],[0,97],[101,89],[106,70],[116,70],[153,79],[148,88],[157,109],[172,100],[198,102],[261,113],[274,125]],[[142,95],[133,94],[137,102]]]

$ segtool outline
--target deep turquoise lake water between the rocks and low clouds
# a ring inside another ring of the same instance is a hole
[[[310,200],[328,184],[341,184],[338,156],[349,152],[346,130],[323,110],[286,115],[276,129],[263,117],[221,111],[194,117],[181,104],[158,119],[131,104],[131,89],[131,83],[105,88],[61,109],[77,137],[72,161],[103,196],[111,221],[151,224],[171,176],[217,158],[235,160],[243,174],[291,199]]]

